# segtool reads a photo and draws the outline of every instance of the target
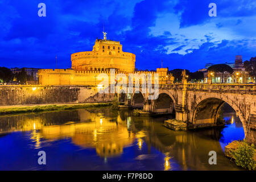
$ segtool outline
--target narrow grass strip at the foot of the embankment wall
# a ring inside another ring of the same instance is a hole
[[[11,107],[0,109],[2,114],[29,113],[51,110],[67,110],[67,109],[82,109],[92,107],[111,106],[112,103],[94,103],[94,104],[72,104],[72,105],[44,105],[44,106],[28,106],[28,107]]]

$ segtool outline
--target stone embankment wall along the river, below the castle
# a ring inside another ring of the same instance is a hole
[[[0,86],[0,105],[110,102],[114,94],[100,94],[94,86]]]

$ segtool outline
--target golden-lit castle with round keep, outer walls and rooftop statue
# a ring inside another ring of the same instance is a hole
[[[156,72],[135,72],[135,55],[122,51],[122,44],[117,41],[96,39],[92,51],[72,53],[72,69],[40,69],[38,71],[41,85],[98,85],[100,73],[110,75],[110,69],[115,73],[159,73],[159,84],[168,80],[167,68],[157,68]]]

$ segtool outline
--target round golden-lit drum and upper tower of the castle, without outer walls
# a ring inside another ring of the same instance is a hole
[[[122,51],[120,42],[96,39],[92,51],[77,52],[71,55],[72,69],[75,71],[109,71],[131,73],[135,69],[135,55]]]

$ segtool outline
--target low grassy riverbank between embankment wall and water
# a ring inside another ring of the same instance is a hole
[[[63,104],[36,104],[36,105],[11,105],[11,106],[0,106],[0,115],[3,114],[16,114],[16,113],[30,113],[39,111],[51,111],[51,110],[67,110],[67,109],[82,109],[91,107],[103,107],[111,106],[111,102],[102,103],[63,103]]]

